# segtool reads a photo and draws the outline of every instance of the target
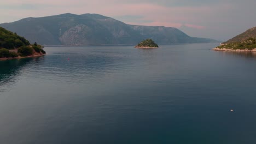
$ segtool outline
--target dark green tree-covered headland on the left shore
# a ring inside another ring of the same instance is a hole
[[[0,60],[43,55],[42,45],[30,44],[24,37],[0,27]]]

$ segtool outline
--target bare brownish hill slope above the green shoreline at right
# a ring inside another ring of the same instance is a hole
[[[256,27],[248,29],[246,32],[243,32],[236,37],[224,42],[227,43],[241,43],[242,41],[248,40],[249,38],[256,38]]]

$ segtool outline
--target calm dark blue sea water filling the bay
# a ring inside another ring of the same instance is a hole
[[[0,61],[0,143],[256,143],[256,53],[217,45]]]

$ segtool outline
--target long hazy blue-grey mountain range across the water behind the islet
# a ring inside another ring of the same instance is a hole
[[[148,38],[158,44],[217,42],[189,37],[173,27],[127,25],[98,14],[28,17],[0,26],[43,45],[133,45]]]

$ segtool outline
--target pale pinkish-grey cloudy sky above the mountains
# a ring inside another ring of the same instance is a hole
[[[101,14],[132,25],[176,27],[228,40],[256,26],[255,0],[0,0],[0,23],[26,17]]]

